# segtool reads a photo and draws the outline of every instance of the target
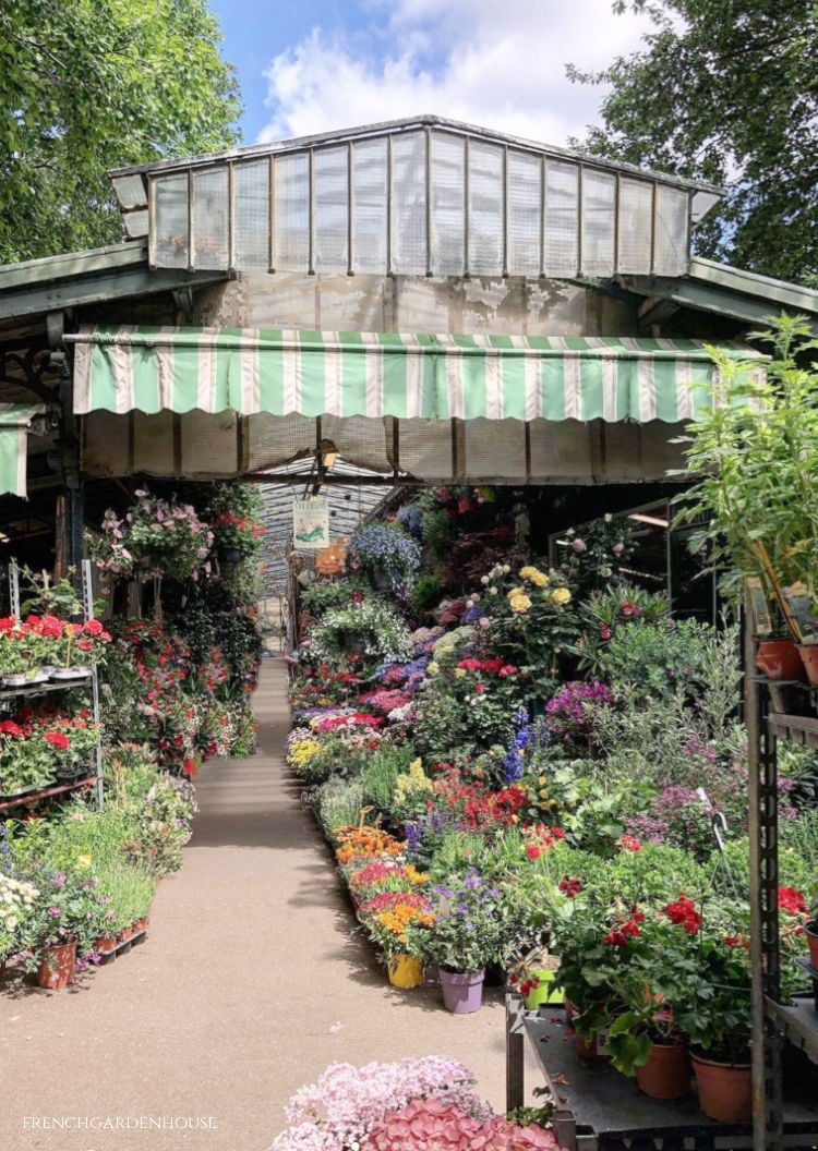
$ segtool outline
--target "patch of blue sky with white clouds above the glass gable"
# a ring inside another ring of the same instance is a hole
[[[370,12],[366,35],[316,28],[273,59],[259,142],[432,113],[565,144],[601,97],[566,63],[604,68],[650,28],[611,0],[373,0]]]

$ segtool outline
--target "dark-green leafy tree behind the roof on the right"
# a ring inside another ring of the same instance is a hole
[[[626,8],[656,31],[603,73],[569,68],[612,87],[581,146],[724,185],[699,254],[818,284],[818,5],[616,0]]]

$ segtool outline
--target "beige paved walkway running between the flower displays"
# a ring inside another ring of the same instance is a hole
[[[502,1108],[500,993],[454,1016],[437,990],[388,986],[283,769],[280,660],[253,702],[260,750],[202,771],[147,940],[73,990],[0,997],[0,1151],[264,1151],[293,1091],[335,1061],[450,1054]],[[46,1130],[44,1116],[145,1126]],[[211,1126],[146,1126],[194,1116]]]

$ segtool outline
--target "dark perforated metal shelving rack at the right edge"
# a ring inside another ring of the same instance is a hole
[[[748,612],[748,619],[752,616]],[[755,666],[755,637],[745,628],[744,665]],[[802,963],[813,994],[781,1003],[778,906],[778,755],[777,741],[818,748],[818,719],[768,709],[763,676],[745,676],[745,722],[750,800],[750,913],[752,965],[753,1146],[781,1151],[786,1145],[781,1051],[789,1039],[818,1064],[818,971]]]

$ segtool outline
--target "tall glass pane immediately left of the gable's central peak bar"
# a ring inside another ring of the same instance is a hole
[[[426,136],[407,132],[392,139],[392,269],[426,272]]]

